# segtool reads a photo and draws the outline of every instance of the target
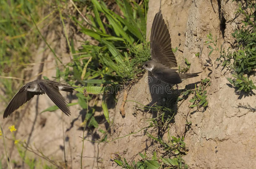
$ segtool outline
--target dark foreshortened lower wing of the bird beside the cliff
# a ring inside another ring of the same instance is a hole
[[[158,67],[152,70],[152,74],[161,81],[164,81],[168,84],[178,84],[181,83],[182,80],[177,72],[176,69],[170,69],[166,67]]]

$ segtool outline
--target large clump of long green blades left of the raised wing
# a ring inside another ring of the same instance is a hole
[[[101,79],[100,82],[106,85],[125,84],[141,73],[142,63],[150,56],[149,43],[146,42],[147,1],[140,5],[127,0],[116,0],[116,3],[121,16],[103,1],[91,0],[88,10],[92,13],[86,15],[89,24],[71,18],[79,31],[91,36],[97,45],[85,41],[79,50],[75,50],[71,41],[74,62],[66,68],[65,80],[83,84],[86,79],[87,85],[91,79]],[[70,73],[73,76],[68,76]]]

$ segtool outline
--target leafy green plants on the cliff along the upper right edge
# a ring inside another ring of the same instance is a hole
[[[250,76],[253,75],[256,69],[256,24],[255,24],[255,8],[256,3],[254,1],[238,2],[238,10],[236,15],[243,16],[243,25],[236,29],[232,36],[235,38],[233,48],[235,51],[230,51],[231,48],[220,50],[220,57],[217,61],[222,63],[222,66],[231,71],[233,78],[227,78],[227,80],[237,88],[238,91],[244,91],[246,93],[256,89]],[[254,21],[253,21],[254,20]],[[212,36],[208,36],[212,39]],[[207,41],[206,43],[214,42]],[[208,46],[212,53],[212,46]]]

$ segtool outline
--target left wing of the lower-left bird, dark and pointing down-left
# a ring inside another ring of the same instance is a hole
[[[11,113],[13,113],[13,111],[17,110],[21,105],[29,101],[32,97],[34,97],[34,95],[37,94],[40,93],[26,91],[25,86],[22,86],[15,96],[13,96],[13,98],[10,100],[10,103],[3,114],[3,118],[9,116]]]

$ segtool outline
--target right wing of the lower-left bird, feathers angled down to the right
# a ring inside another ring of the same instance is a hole
[[[60,108],[63,113],[67,116],[71,115],[70,110],[67,105],[67,101],[65,98],[60,94],[59,89],[55,86],[47,85],[46,83],[39,82],[38,83],[40,88],[47,94],[47,96],[53,101],[53,103]]]

